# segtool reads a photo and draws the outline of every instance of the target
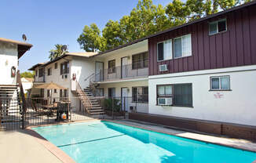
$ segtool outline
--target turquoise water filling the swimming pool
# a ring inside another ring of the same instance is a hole
[[[76,162],[251,163],[256,153],[108,121],[33,128]]]

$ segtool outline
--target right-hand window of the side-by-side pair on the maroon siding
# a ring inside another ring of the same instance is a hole
[[[191,34],[182,36],[180,38],[174,38],[174,58],[191,55]]]

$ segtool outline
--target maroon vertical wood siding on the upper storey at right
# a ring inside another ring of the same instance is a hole
[[[209,35],[208,23],[227,19],[228,30]],[[192,56],[157,61],[157,42],[192,34]],[[256,5],[148,38],[149,75],[256,64]],[[159,72],[159,65],[168,71]]]

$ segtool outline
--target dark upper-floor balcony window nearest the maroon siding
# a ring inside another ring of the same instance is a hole
[[[133,69],[148,67],[148,53],[141,53],[133,55]]]

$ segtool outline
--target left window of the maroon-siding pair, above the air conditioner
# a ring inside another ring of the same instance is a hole
[[[172,40],[166,40],[157,44],[157,60],[170,60],[173,57]]]

